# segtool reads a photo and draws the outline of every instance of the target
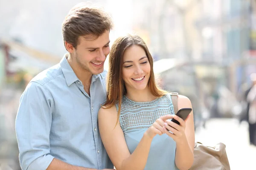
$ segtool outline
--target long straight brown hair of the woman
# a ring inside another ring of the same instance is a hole
[[[148,57],[148,62],[150,64],[151,73],[148,80],[149,90],[155,97],[161,97],[164,94],[167,94],[167,91],[160,89],[154,78],[153,71],[153,58],[148,51],[148,47],[145,42],[139,36],[134,36],[128,34],[124,37],[117,38],[111,47],[111,51],[109,54],[109,71],[107,76],[107,101],[105,103],[104,108],[111,108],[118,102],[118,114],[116,125],[119,121],[120,111],[121,111],[121,103],[122,97],[126,94],[126,88],[124,80],[122,79],[122,62],[123,55],[127,48],[139,45],[142,47]]]

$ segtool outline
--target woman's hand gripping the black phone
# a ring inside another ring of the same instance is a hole
[[[190,116],[190,114],[189,114],[189,116]],[[189,119],[189,116],[186,118],[186,120]],[[166,120],[166,122],[164,123],[163,129],[164,129],[165,133],[168,136],[170,136],[176,143],[182,144],[187,141],[186,134],[185,134],[186,120],[184,121],[177,115],[173,116],[172,119],[175,119],[178,122],[180,122],[180,125],[178,125],[177,123],[172,122],[170,120]],[[169,132],[168,130],[171,131],[172,133]]]

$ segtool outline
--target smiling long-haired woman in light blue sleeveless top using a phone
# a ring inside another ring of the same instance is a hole
[[[99,110],[99,131],[116,170],[188,170],[192,166],[193,113],[186,121],[174,116],[171,96],[157,87],[153,58],[140,37],[127,35],[113,43],[107,91],[107,101]],[[179,95],[177,102],[178,109],[192,108],[185,96]]]

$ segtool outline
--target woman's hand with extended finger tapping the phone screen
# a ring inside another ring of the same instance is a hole
[[[165,133],[163,127],[165,127],[164,123],[167,119],[172,119],[174,115],[165,115],[165,116],[161,116],[159,119],[157,119],[149,128],[148,130],[145,132],[145,134],[153,139],[154,136],[158,135],[163,135],[163,133]]]

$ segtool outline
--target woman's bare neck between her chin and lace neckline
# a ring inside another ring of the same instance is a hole
[[[127,89],[126,96],[134,102],[151,102],[157,98],[148,87],[143,90]]]

